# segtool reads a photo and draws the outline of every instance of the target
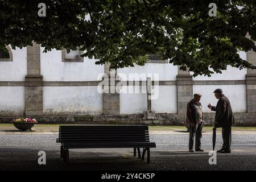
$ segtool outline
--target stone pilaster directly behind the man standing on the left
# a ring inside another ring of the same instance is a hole
[[[187,103],[193,98],[193,80],[188,71],[178,68],[177,79],[177,114],[185,114]]]

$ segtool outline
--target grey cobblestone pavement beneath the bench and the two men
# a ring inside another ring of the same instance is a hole
[[[212,135],[203,134],[204,152],[187,152],[188,133],[151,133],[156,143],[150,164],[133,157],[133,149],[98,148],[69,151],[69,164],[60,159],[57,134],[0,135],[0,170],[256,170],[256,134],[233,134],[232,153],[217,154],[217,164],[210,165]],[[221,147],[217,134],[216,149]],[[46,165],[38,164],[38,152],[46,152]]]

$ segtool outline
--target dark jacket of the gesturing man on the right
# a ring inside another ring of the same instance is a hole
[[[212,106],[211,110],[216,111],[216,127],[231,126],[234,124],[234,114],[232,112],[229,99],[224,96],[224,94],[218,100],[217,106]]]

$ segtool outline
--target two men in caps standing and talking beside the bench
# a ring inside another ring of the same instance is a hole
[[[216,106],[208,105],[209,109],[216,111],[214,125],[215,127],[222,127],[223,144],[221,150],[217,152],[230,153],[231,145],[231,127],[234,123],[234,115],[230,102],[224,96],[221,89],[214,90],[214,96],[218,99]],[[187,104],[187,123],[189,123],[189,152],[193,152],[194,138],[196,138],[195,149],[201,150],[201,137],[203,125],[203,112],[201,103],[201,94],[194,94],[194,98]]]

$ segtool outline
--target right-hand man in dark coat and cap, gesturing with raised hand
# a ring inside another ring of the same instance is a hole
[[[208,105],[209,109],[216,111],[215,127],[222,127],[223,144],[220,153],[230,153],[231,149],[231,127],[234,123],[234,115],[229,99],[224,96],[221,89],[214,90],[214,96],[218,99],[217,106]]]

